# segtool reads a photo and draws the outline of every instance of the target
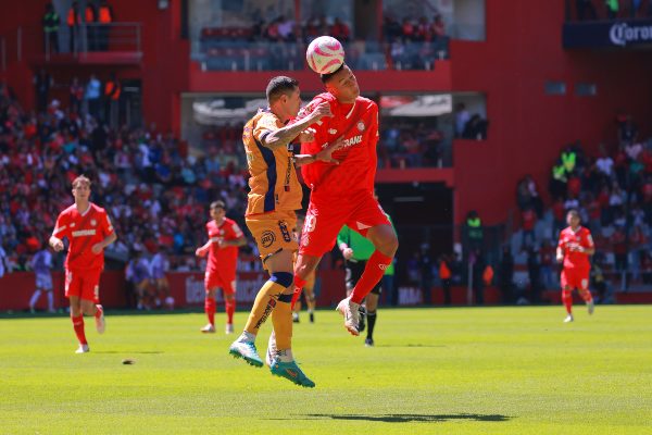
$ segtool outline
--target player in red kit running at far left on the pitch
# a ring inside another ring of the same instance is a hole
[[[98,333],[104,333],[104,310],[100,302],[100,274],[104,269],[104,248],[117,239],[104,209],[89,201],[90,179],[84,175],[73,181],[75,203],[59,214],[50,237],[57,252],[63,250],[67,238],[65,258],[65,296],[71,301],[71,319],[79,340],[77,353],[86,353],[88,341],[84,332],[84,314],[93,315]]]

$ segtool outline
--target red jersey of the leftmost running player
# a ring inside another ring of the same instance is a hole
[[[62,239],[67,237],[70,247],[65,258],[65,269],[102,269],[104,266],[104,251],[95,254],[91,249],[113,234],[113,226],[109,215],[101,207],[89,202],[88,209],[79,213],[77,207],[72,204],[59,214],[52,235]]]

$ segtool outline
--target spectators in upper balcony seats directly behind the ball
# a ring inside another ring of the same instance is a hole
[[[301,24],[287,16],[272,22],[260,18],[251,27],[202,29],[201,50],[208,54],[208,69],[297,69],[302,65],[300,46],[322,35],[342,42],[347,62],[358,70],[430,70],[436,60],[448,58],[449,37],[439,14],[431,21],[425,16],[405,17],[401,23],[386,16],[383,36],[375,41],[355,37],[349,24],[338,16],[311,16]],[[224,61],[225,57],[230,62]],[[247,62],[248,57],[253,61]]]

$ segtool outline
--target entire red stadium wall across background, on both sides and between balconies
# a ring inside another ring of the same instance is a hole
[[[45,1],[7,3],[0,14],[0,35],[17,26],[39,27]],[[145,119],[155,122],[160,130],[179,132],[181,92],[260,94],[274,74],[201,72],[190,61],[189,41],[180,37],[180,0],[172,0],[166,10],[159,10],[153,0],[111,3],[117,21],[142,25],[142,62],[120,69],[118,76],[142,80]],[[486,94],[489,139],[455,141],[452,175],[450,170],[443,170],[446,174],[440,170],[410,174],[417,181],[452,181],[456,223],[472,209],[480,212],[486,224],[504,222],[515,208],[518,178],[530,173],[544,191],[551,164],[565,144],[579,139],[590,152],[602,140],[613,144],[617,112],[631,113],[641,133],[652,133],[642,125],[652,119],[652,57],[647,51],[564,51],[563,1],[491,0],[486,14],[487,40],[453,40],[451,61],[438,63],[434,72],[359,72],[361,87],[367,92]],[[24,44],[25,50],[40,53],[40,33]],[[34,101],[30,69],[38,65],[32,58],[10,62],[8,71],[0,72],[0,78],[9,80],[27,107]],[[97,69],[103,74],[112,70],[110,65]],[[60,66],[58,73],[72,76],[78,71]],[[305,90],[321,88],[312,73],[297,76]],[[564,82],[566,95],[546,95],[547,80]],[[578,83],[595,84],[598,95],[576,96]],[[431,175],[436,173],[441,176]]]

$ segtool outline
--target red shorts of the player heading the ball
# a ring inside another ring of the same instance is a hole
[[[346,202],[315,200],[311,196],[299,253],[322,257],[333,249],[337,234],[344,225],[366,236],[374,226],[391,224],[372,192],[365,191]]]

